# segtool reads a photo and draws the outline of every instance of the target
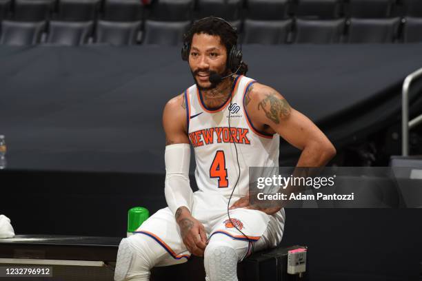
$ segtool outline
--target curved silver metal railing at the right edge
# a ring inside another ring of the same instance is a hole
[[[422,68],[409,74],[403,82],[401,97],[401,155],[409,156],[409,130],[422,123],[422,114],[409,121],[410,83],[422,76]]]

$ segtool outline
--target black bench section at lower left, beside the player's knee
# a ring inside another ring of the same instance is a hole
[[[40,279],[39,275],[33,280],[113,280],[120,240],[120,237],[17,235],[0,239],[0,267],[50,267],[52,278]],[[27,280],[6,280],[17,279]]]

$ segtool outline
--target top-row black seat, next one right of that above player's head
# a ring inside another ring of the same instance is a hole
[[[248,19],[276,21],[288,14],[288,0],[247,0]]]

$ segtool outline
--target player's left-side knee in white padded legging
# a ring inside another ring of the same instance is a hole
[[[117,252],[114,280],[149,280],[150,269],[154,267],[163,249],[148,236],[135,234],[123,238]]]

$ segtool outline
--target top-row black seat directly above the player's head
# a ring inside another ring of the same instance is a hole
[[[241,16],[242,0],[198,0],[197,19],[221,17],[226,21],[237,21]]]

